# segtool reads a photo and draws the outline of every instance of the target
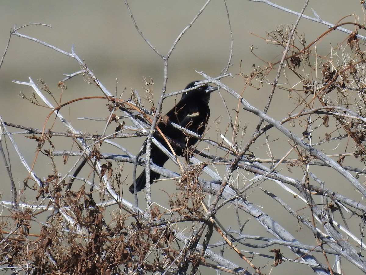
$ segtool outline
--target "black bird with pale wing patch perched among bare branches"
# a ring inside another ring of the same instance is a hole
[[[189,83],[186,89],[193,88],[193,81]],[[202,135],[205,131],[209,116],[210,108],[208,101],[210,100],[210,93],[217,88],[210,85],[203,85],[189,92],[183,93],[182,98],[171,109],[166,115],[169,121],[174,122],[188,130],[191,130],[199,135]],[[176,155],[184,155],[184,152],[188,146],[194,145],[198,139],[195,137],[187,136],[182,130],[174,128],[169,123],[160,122],[157,125],[161,132],[167,137],[171,142],[171,146],[174,149]],[[156,131],[154,133],[154,138],[160,142],[165,148],[169,150],[167,142],[161,137]],[[188,140],[187,140],[188,139]],[[163,166],[164,163],[169,159],[163,151],[161,151],[155,144],[151,145],[151,160],[158,166]],[[154,180],[160,178],[160,174],[150,170],[150,182],[153,183]],[[145,170],[136,179],[136,191],[144,189],[146,186],[146,174]],[[134,185],[130,186],[128,189],[130,192],[134,193]]]

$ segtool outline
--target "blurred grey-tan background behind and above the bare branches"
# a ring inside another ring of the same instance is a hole
[[[288,9],[300,12],[304,2],[293,0],[273,0],[274,3]],[[141,31],[146,38],[166,55],[179,33],[192,21],[202,8],[205,1],[129,1],[131,11]],[[252,65],[264,65],[250,52],[253,45],[255,53],[266,61],[277,61],[281,57],[282,47],[266,45],[260,37],[266,37],[266,31],[272,31],[280,25],[292,25],[297,16],[280,11],[264,3],[251,1],[227,1],[231,27],[234,37],[232,66],[229,73],[235,78],[224,78],[223,82],[236,92],[241,93],[244,81],[239,75],[240,64],[244,74],[249,74]],[[336,23],[350,14],[363,16],[359,0],[321,0],[310,1],[306,15],[314,17],[311,8],[325,21]],[[123,1],[7,1],[0,3],[0,52],[5,50],[9,39],[10,29],[29,23],[45,23],[45,26],[29,26],[19,30],[20,33],[35,37],[54,45],[64,51],[71,51],[74,44],[76,54],[85,60],[87,66],[93,70],[97,78],[112,93],[115,93],[116,79],[118,79],[117,93],[127,88],[125,98],[129,97],[130,89],[143,94],[143,78],[154,81],[154,98],[158,99],[164,77],[163,60],[153,52],[138,34],[126,5]],[[344,21],[354,22],[353,16]],[[363,18],[360,18],[363,22]],[[328,29],[325,25],[301,19],[298,33],[306,34],[306,41],[315,40]],[[255,35],[253,35],[253,34]],[[329,52],[330,43],[343,41],[346,34],[333,32],[322,42],[318,51]],[[328,42],[329,40],[329,42]],[[195,70],[216,77],[227,66],[230,54],[230,30],[223,1],[211,1],[202,15],[188,29],[173,51],[168,64],[167,91],[173,92],[183,89],[186,84],[195,79],[202,79]],[[323,48],[321,48],[323,47]],[[0,115],[6,122],[41,128],[49,113],[49,109],[37,107],[18,95],[20,92],[31,95],[31,88],[12,83],[13,80],[34,81],[43,79],[55,97],[60,94],[57,82],[64,78],[63,74],[71,74],[80,68],[76,61],[36,42],[12,36],[10,47],[0,69]],[[280,79],[280,82],[286,82]],[[62,102],[83,96],[101,95],[95,86],[87,85],[79,76],[66,82]],[[247,88],[244,98],[254,106],[262,109],[268,99],[268,90],[264,93],[253,88]],[[283,92],[279,97],[281,104],[286,104],[288,93]],[[170,109],[174,99],[168,99],[163,106],[163,112]],[[276,99],[278,100],[278,99]],[[93,105],[95,103],[95,105]],[[80,104],[79,109],[63,110],[67,119],[81,116],[105,117],[108,115],[104,103],[88,101],[87,105]],[[219,96],[212,96],[210,102],[212,119],[221,115]],[[235,107],[234,107],[235,108]],[[276,111],[271,109],[271,115]],[[98,115],[96,115],[96,113]],[[224,111],[223,111],[224,114]],[[258,119],[248,115],[246,123],[255,127]],[[94,127],[93,123],[72,120],[76,129],[94,133],[102,128]],[[103,126],[103,125],[102,125]],[[51,126],[50,126],[51,127]],[[62,130],[62,128],[60,128]],[[248,130],[249,133],[252,131]],[[25,153],[27,161],[33,161],[36,143],[18,137],[18,144]],[[141,140],[141,144],[142,144]],[[137,152],[141,144],[126,145],[132,152]],[[71,148],[66,148],[71,149]],[[14,151],[11,151],[14,152]],[[40,160],[42,161],[42,160]],[[45,165],[49,165],[47,160]],[[0,165],[3,174],[3,163]],[[22,181],[27,172],[18,159],[12,159],[13,172],[19,172],[16,182]],[[37,167],[41,169],[42,167]],[[17,171],[16,169],[19,169]],[[51,170],[51,167],[50,167]],[[40,171],[40,170],[38,170]],[[5,174],[4,174],[5,175]],[[8,180],[1,183],[4,192],[3,199],[8,199]],[[347,264],[347,263],[346,263]],[[297,274],[308,274],[309,268],[303,271],[296,268]],[[291,265],[279,266],[273,274],[293,274]],[[288,273],[286,273],[288,272]],[[303,272],[303,273],[302,273]]]

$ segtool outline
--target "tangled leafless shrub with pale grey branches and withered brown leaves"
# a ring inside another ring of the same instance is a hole
[[[127,8],[130,10],[128,5]],[[162,57],[164,66],[199,14],[166,56],[147,41]],[[138,29],[132,12],[131,17]],[[269,274],[271,268],[292,261],[307,265],[317,274],[343,274],[342,263],[349,261],[355,270],[366,273],[362,256],[366,217],[366,60],[365,40],[358,35],[365,27],[340,21],[314,41],[306,42],[306,35],[296,31],[298,22],[269,31],[263,38],[284,49],[276,62],[266,62],[251,49],[260,64],[254,65],[251,72],[240,72],[240,93],[220,82],[229,74],[212,78],[199,73],[206,82],[220,88],[225,98],[222,107],[228,110],[228,116],[210,126],[217,127],[217,140],[199,137],[205,149],[189,148],[186,158],[171,155],[179,173],[153,163],[148,165],[165,178],[173,178],[177,189],[166,192],[166,197],[152,198],[147,184],[145,210],[138,208],[137,196],[133,203],[126,199],[126,186],[132,182],[136,167],[149,163],[149,149],[144,161],[142,150],[134,155],[115,140],[134,142],[135,137],[146,135],[151,138],[157,122],[164,119],[160,114],[163,100],[177,93],[163,92],[159,102],[154,103],[153,82],[146,79],[147,104],[140,98],[142,93],[135,91],[124,91],[115,97],[73,48],[71,53],[64,52],[20,34],[20,28],[13,30],[12,36],[51,47],[78,62],[81,69],[60,80],[57,89],[67,89],[68,79],[81,76],[99,88],[99,94],[75,97],[61,104],[62,93],[59,98],[54,96],[55,85],[39,80],[38,88],[32,79],[15,81],[30,86],[31,95],[22,93],[22,98],[47,107],[49,115],[39,129],[1,120],[0,149],[12,194],[12,201],[0,201],[1,265],[14,274],[196,274],[200,266],[210,268],[211,273],[213,269]],[[324,37],[341,26],[355,31],[345,34],[328,54],[319,55],[315,45],[324,43]],[[229,64],[230,61],[228,67]],[[293,80],[279,82],[280,77],[290,75],[297,79],[294,84],[290,84]],[[163,91],[166,72],[164,79]],[[242,97],[249,86],[270,91],[264,111]],[[283,109],[283,117],[274,119],[268,110],[275,108],[273,100],[279,91],[286,91],[288,101],[276,107]],[[45,95],[51,96],[54,103]],[[97,122],[105,125],[104,131],[96,134],[74,129],[63,117],[64,107],[75,108],[78,102],[91,99],[100,100],[101,109],[109,112],[108,117]],[[226,106],[228,101],[236,104],[234,112]],[[253,133],[248,133],[244,125],[248,112],[259,118]],[[66,130],[54,130],[57,119]],[[22,129],[18,134],[26,133],[26,138],[34,140],[37,153],[33,163],[23,159],[12,138],[17,133],[10,133],[9,128]],[[194,133],[187,133],[190,134]],[[272,136],[281,138],[272,140]],[[72,147],[60,148],[55,137],[67,139]],[[148,139],[147,148],[151,142]],[[10,144],[29,171],[21,190],[12,180],[16,175],[5,157]],[[107,153],[107,145],[118,152]],[[268,158],[263,157],[261,147],[266,148]],[[52,173],[46,169],[44,174],[34,172],[41,157],[52,163]],[[339,182],[329,182],[324,176],[329,171],[339,175]],[[108,211],[110,214],[106,215]],[[232,219],[224,219],[225,216]],[[288,216],[297,229],[281,224],[281,216]],[[250,229],[253,223],[257,230]]]

